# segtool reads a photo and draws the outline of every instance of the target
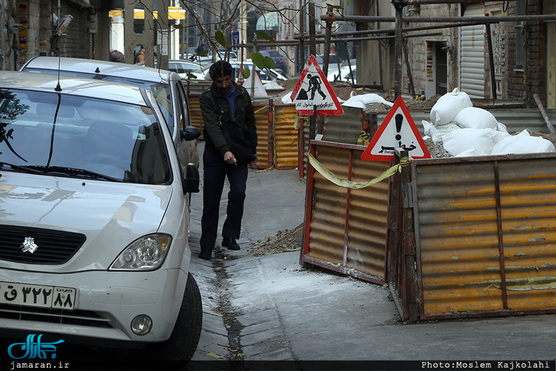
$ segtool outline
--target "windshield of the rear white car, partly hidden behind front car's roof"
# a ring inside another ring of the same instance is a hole
[[[27,72],[35,72],[41,74],[58,74],[57,69],[40,69],[34,67],[27,67],[25,69]],[[137,86],[138,88],[145,88],[153,92],[156,101],[158,102],[158,107],[161,108],[162,115],[164,116],[165,122],[170,128],[170,133],[174,131],[174,120],[172,119],[172,94],[170,94],[170,84],[167,83],[153,83],[151,81],[129,79],[120,76],[109,76],[104,74],[91,74],[89,72],[75,72],[75,71],[64,71],[65,76],[75,76],[75,77],[86,77],[88,79],[97,79],[105,81],[113,81],[115,83],[126,83],[129,85]]]

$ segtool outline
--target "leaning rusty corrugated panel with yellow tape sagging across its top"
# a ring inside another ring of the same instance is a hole
[[[389,167],[389,163],[361,160],[363,146],[311,143],[318,161],[343,179],[370,181]],[[384,281],[388,192],[388,181],[351,190],[314,172],[307,192],[312,197],[306,210],[309,245],[304,246],[302,260],[369,281]]]

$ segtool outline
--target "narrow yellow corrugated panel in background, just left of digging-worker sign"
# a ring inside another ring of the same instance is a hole
[[[297,110],[293,104],[275,106],[275,167],[277,169],[293,169],[297,167],[297,129],[295,117]]]

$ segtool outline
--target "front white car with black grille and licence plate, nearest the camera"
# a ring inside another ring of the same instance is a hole
[[[151,91],[0,72],[0,337],[188,361],[202,327],[190,175]]]

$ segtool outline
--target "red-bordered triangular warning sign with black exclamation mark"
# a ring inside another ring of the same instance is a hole
[[[402,97],[395,100],[377,133],[363,151],[361,160],[393,161],[395,148],[408,151],[410,158],[430,158],[425,141]]]

